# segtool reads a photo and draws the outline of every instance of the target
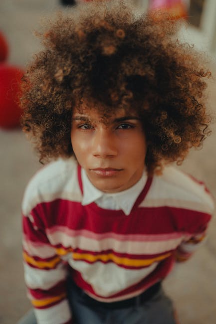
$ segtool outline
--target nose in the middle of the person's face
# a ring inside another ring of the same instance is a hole
[[[94,157],[102,159],[117,156],[117,140],[106,128],[102,128],[95,132],[93,139],[92,154]]]

